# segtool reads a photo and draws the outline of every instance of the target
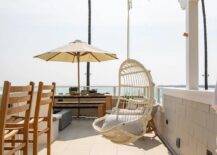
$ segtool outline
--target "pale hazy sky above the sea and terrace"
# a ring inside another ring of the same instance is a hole
[[[217,1],[206,0],[209,84],[217,80]],[[199,4],[200,84],[203,84],[203,27]],[[91,85],[118,85],[126,59],[127,0],[92,0],[92,44],[119,60],[91,63]],[[87,41],[87,0],[0,0],[0,85],[55,81],[76,85],[76,64],[44,62],[33,56],[73,40]],[[131,58],[151,70],[157,85],[185,84],[185,11],[178,0],[134,0]],[[86,64],[81,65],[85,85]]]

